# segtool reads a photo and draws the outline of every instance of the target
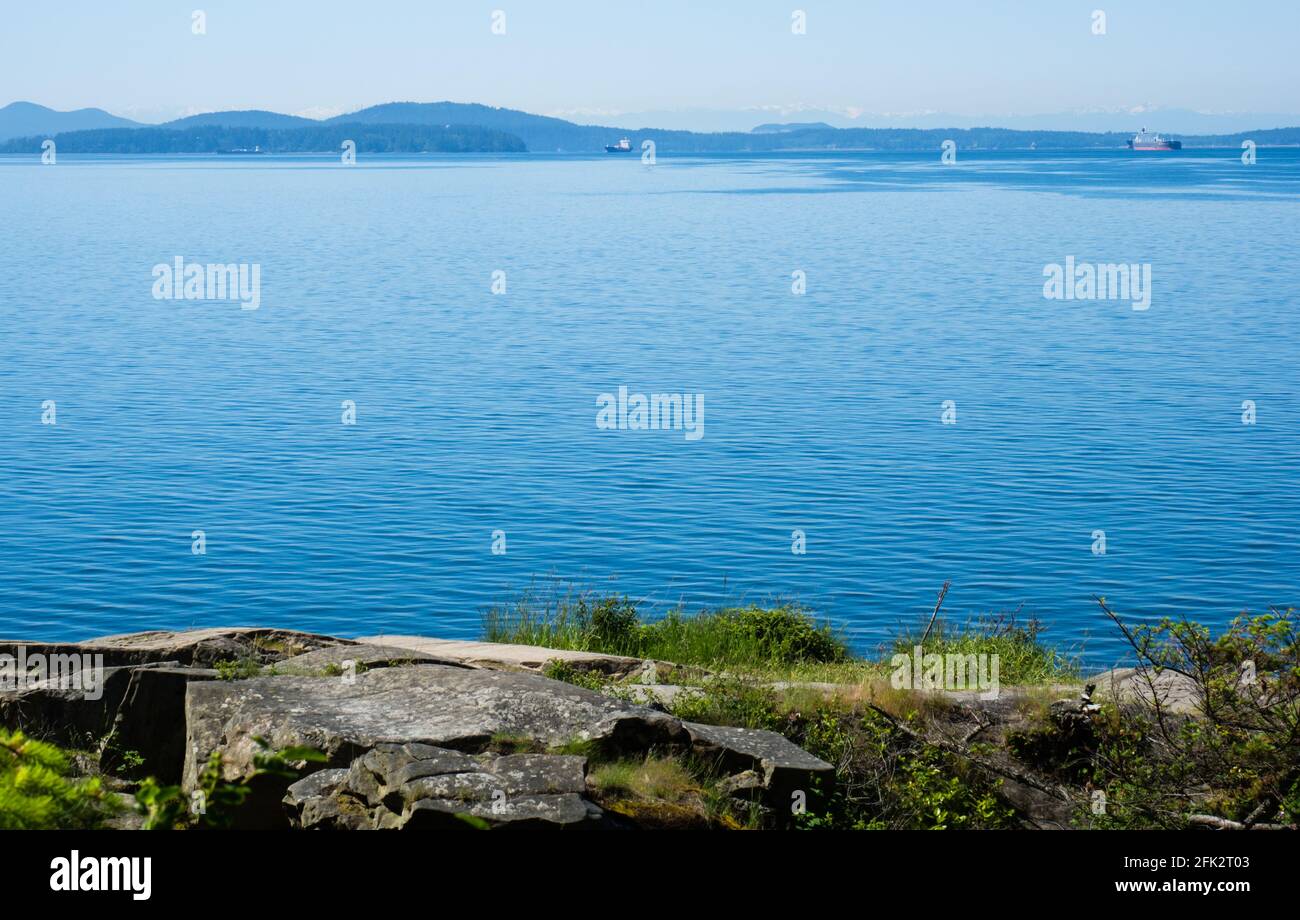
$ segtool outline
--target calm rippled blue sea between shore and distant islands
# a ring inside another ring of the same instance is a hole
[[[0,159],[0,634],[473,637],[555,578],[872,650],[952,580],[1106,663],[1095,594],[1300,600],[1300,152],[959,156]],[[1150,309],[1045,300],[1067,256]],[[705,437],[598,430],[620,385]]]

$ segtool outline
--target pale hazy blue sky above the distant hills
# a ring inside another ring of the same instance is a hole
[[[1300,0],[32,0],[0,25],[0,104],[146,121],[442,99],[592,116],[1300,112]]]

